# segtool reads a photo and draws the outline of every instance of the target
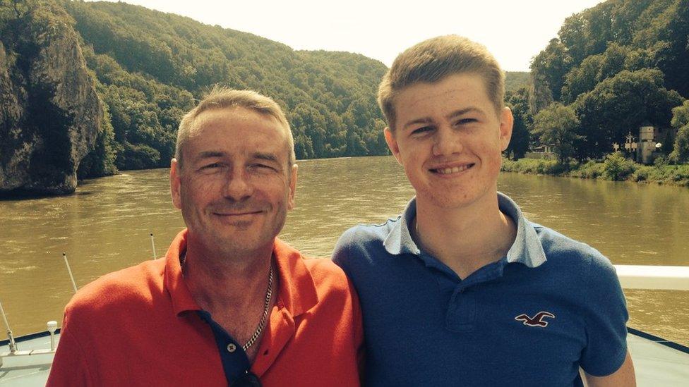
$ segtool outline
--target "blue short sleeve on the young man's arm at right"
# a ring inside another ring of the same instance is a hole
[[[594,255],[587,273],[586,348],[580,365],[587,374],[606,376],[617,371],[627,355],[627,304],[615,267]]]

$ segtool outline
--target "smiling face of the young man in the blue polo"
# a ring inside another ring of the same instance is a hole
[[[496,112],[480,75],[409,86],[395,97],[395,112],[385,140],[419,204],[450,209],[495,199],[513,118],[508,108]]]

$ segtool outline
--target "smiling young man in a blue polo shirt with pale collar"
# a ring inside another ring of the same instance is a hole
[[[485,47],[457,36],[395,59],[378,102],[416,197],[333,254],[364,313],[369,386],[633,386],[625,300],[592,247],[497,192],[513,117]]]

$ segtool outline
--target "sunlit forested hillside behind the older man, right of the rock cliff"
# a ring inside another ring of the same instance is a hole
[[[76,21],[95,71],[120,169],[167,166],[179,118],[216,84],[277,99],[292,123],[299,159],[386,152],[375,102],[383,63],[357,54],[294,51],[124,3],[61,4]]]

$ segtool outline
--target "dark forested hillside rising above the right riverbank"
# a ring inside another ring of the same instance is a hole
[[[581,161],[644,123],[673,126],[660,150],[689,161],[688,37],[689,0],[609,0],[570,16],[534,58],[531,89],[510,95],[533,124],[526,135]]]

